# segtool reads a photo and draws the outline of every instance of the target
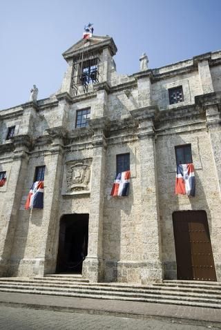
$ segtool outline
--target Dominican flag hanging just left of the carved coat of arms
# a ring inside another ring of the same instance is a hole
[[[36,181],[32,184],[28,194],[25,208],[43,208],[44,181]]]

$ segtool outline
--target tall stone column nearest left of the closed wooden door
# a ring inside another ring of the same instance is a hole
[[[162,282],[160,214],[157,192],[157,165],[155,155],[154,107],[132,110],[139,122],[141,217],[143,224],[143,258],[146,264],[142,282]]]

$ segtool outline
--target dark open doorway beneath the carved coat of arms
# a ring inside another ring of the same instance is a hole
[[[88,214],[63,215],[60,221],[57,273],[81,273],[88,254]]]

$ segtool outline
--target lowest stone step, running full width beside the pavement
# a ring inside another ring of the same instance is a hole
[[[86,294],[86,293],[66,293],[66,292],[59,292],[59,291],[41,291],[41,290],[30,290],[30,289],[4,289],[1,290],[4,292],[13,292],[13,293],[30,293],[30,294],[44,294],[44,295],[62,295],[66,297],[79,297],[79,298],[97,298],[97,299],[109,299],[109,300],[131,300],[137,302],[155,302],[155,303],[163,303],[163,304],[177,304],[182,306],[194,306],[194,307],[206,307],[206,308],[215,308],[220,309],[220,301],[217,300],[194,300],[193,298],[187,298],[180,300],[179,297],[177,298],[169,298],[166,296],[157,296],[154,295],[149,296],[148,298],[137,298],[131,296],[122,296],[119,295],[104,295],[104,294]]]

